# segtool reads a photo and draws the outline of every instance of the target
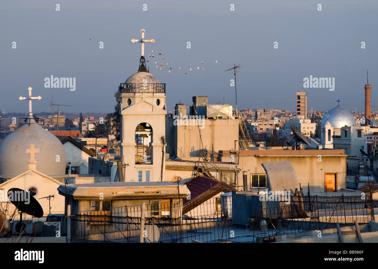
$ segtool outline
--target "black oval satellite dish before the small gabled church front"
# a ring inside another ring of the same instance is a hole
[[[9,192],[13,192],[13,197],[22,197],[22,198],[28,197],[29,201],[11,201],[11,203],[14,204],[14,206],[17,207],[17,209],[19,209],[22,213],[32,215],[37,218],[42,218],[43,209],[41,205],[38,203],[38,201],[36,200],[36,198],[34,198],[31,195],[28,195],[28,193],[25,192],[25,190],[21,190],[18,188],[9,189],[8,197],[9,197]],[[24,199],[20,199],[20,200],[24,200]]]

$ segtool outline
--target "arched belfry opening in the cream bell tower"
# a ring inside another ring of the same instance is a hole
[[[140,123],[135,128],[135,164],[152,164],[152,127]]]

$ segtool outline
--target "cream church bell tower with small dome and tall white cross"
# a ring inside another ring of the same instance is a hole
[[[125,181],[165,180],[165,124],[166,96],[165,83],[150,74],[145,65],[144,43],[155,40],[144,39],[141,29],[141,57],[138,72],[132,74],[125,83],[119,85],[121,92],[121,142],[120,153]],[[162,168],[163,166],[163,168]],[[163,171],[163,175],[161,175]],[[119,181],[123,181],[119,178]]]

